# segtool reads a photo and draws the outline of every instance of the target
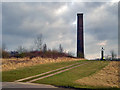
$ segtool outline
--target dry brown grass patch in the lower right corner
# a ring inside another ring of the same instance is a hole
[[[84,77],[75,81],[80,85],[98,86],[98,87],[117,87],[120,88],[119,84],[119,73],[120,69],[119,61],[111,61],[108,66],[100,70],[99,72]]]

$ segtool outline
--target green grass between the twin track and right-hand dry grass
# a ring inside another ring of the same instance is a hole
[[[80,85],[75,83],[75,81],[83,77],[88,77],[98,72],[103,67],[105,67],[109,62],[107,61],[87,61],[87,62],[88,64],[82,65],[80,67],[71,69],[69,71],[60,73],[55,76],[35,81],[34,83],[51,84],[55,86],[73,88],[86,88],[86,87],[90,88],[91,86]]]

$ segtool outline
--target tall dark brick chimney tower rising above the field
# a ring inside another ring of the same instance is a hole
[[[77,14],[77,57],[84,58],[83,14]]]

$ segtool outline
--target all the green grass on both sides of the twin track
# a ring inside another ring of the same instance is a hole
[[[55,86],[73,87],[73,88],[90,88],[90,86],[80,86],[79,84],[76,84],[75,81],[83,77],[88,77],[98,72],[109,63],[109,61],[80,60],[80,61],[68,61],[68,62],[59,62],[59,63],[51,63],[51,64],[40,64],[40,65],[20,68],[16,70],[3,71],[2,81],[13,82],[18,79],[37,75],[50,70],[55,70],[57,68],[68,66],[78,62],[80,64],[82,63],[87,63],[87,64],[81,65],[79,67],[75,67],[71,70],[56,74],[51,77],[47,77],[47,78],[35,81],[34,83],[51,84]]]

